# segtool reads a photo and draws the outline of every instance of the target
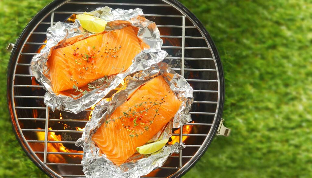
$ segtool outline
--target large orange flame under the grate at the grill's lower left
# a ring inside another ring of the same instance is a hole
[[[41,129],[41,128],[38,128]],[[52,130],[52,128],[48,128]],[[45,132],[36,132],[38,140],[44,140]],[[61,135],[56,135],[55,132],[48,132],[48,140],[49,141],[62,141]],[[44,143],[42,143],[44,145]],[[83,153],[83,151],[76,151],[67,149],[63,143],[48,143],[47,145],[47,152],[66,152],[66,153]],[[67,163],[66,159],[82,159],[82,155],[55,155],[55,154],[48,154],[47,159],[49,162],[53,163]]]

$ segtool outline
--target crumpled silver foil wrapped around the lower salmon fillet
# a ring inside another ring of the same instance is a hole
[[[158,75],[164,77],[171,90],[182,101],[172,121],[160,132],[160,134],[163,134],[163,139],[172,135],[172,127],[181,127],[184,123],[191,121],[189,110],[193,103],[193,89],[183,76],[173,71],[166,63],[160,62],[154,64],[149,69],[140,71],[132,77],[128,76],[126,78],[127,86],[124,90],[116,93],[111,101],[103,99],[95,106],[92,118],[86,124],[82,137],[76,142],[76,146],[81,146],[84,149],[81,164],[86,177],[139,178],[140,176],[147,175],[155,168],[162,166],[172,153],[178,153],[185,148],[183,144],[176,142],[170,147],[163,147],[159,152],[152,155],[140,155],[136,153],[126,163],[116,166],[101,152],[91,139],[101,124],[105,123],[105,118],[109,118],[114,110],[127,100],[129,94],[142,84],[148,82],[149,79]]]

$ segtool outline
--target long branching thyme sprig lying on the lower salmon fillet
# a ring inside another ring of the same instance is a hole
[[[148,113],[148,111],[150,109],[152,109],[154,106],[158,106],[158,108],[155,110],[155,114],[154,114],[154,117],[151,121],[149,121],[149,125],[148,126],[145,126],[144,127],[144,130],[140,133],[134,133],[134,131],[132,131],[133,134],[130,134],[129,136],[130,137],[138,137],[139,135],[142,135],[144,132],[148,131],[149,130],[149,127],[151,126],[151,124],[154,122],[154,119],[156,117],[156,115],[158,114],[158,110],[160,108],[160,106],[162,105],[162,103],[165,102],[165,101],[162,101],[162,102],[153,102],[153,101],[145,101],[145,102],[142,102],[140,104],[136,104],[134,105],[133,107],[129,107],[129,109],[127,111],[124,111],[122,112],[122,115],[119,116],[118,118],[113,118],[113,119],[108,119],[105,121],[105,124],[108,124],[110,123],[111,121],[115,122],[116,120],[119,120],[119,119],[122,119],[122,121],[124,121],[124,117],[125,119],[128,119],[128,118],[131,118],[131,117],[134,117],[135,115],[137,114],[142,114],[144,112]],[[144,105],[147,105],[147,104],[151,104],[151,106],[147,107],[147,106],[144,106]],[[140,110],[140,111],[137,111],[138,108],[144,108],[143,110]],[[138,126],[138,120],[137,118],[135,118],[133,120],[133,123],[134,123],[134,127]],[[141,125],[144,125],[145,123],[140,123]],[[126,126],[125,126],[126,127]]]

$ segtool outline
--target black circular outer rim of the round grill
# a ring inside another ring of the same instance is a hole
[[[11,87],[13,86],[13,82],[14,82],[14,73],[15,73],[15,65],[17,63],[17,55],[19,54],[19,50],[22,51],[21,46],[22,46],[22,42],[25,40],[25,38],[27,38],[27,36],[29,35],[29,32],[31,31],[31,28],[33,28],[39,21],[41,21],[43,19],[43,15],[45,15],[46,11],[51,11],[53,10],[55,7],[58,7],[59,5],[67,2],[68,0],[54,0],[52,2],[50,2],[49,4],[47,4],[45,7],[43,7],[31,20],[30,22],[27,24],[27,26],[24,28],[24,30],[22,31],[21,35],[19,36],[19,38],[17,39],[11,56],[10,56],[10,60],[8,63],[8,69],[7,69],[7,103],[8,103],[8,109],[10,112],[10,118],[11,118],[11,124],[12,124],[12,130],[15,134],[15,137],[17,138],[17,141],[19,142],[19,144],[21,145],[21,147],[23,148],[24,152],[26,153],[26,155],[32,160],[32,162],[39,167],[39,169],[41,169],[41,171],[43,171],[46,175],[48,175],[49,177],[57,177],[54,171],[52,171],[50,168],[48,168],[47,166],[42,166],[40,164],[41,160],[37,160],[37,155],[33,155],[32,152],[29,150],[29,148],[27,147],[27,145],[22,141],[23,139],[23,135],[20,133],[22,132],[21,129],[19,132],[17,132],[17,130],[15,128],[18,128],[17,123],[18,120],[17,118],[14,117],[14,98]],[[224,107],[224,100],[225,100],[225,84],[224,84],[224,71],[223,71],[223,67],[222,67],[222,62],[220,59],[220,55],[217,51],[217,47],[215,45],[215,43],[213,42],[210,34],[208,33],[208,31],[206,30],[206,28],[204,27],[204,25],[202,24],[202,22],[200,22],[200,20],[190,11],[188,10],[187,7],[185,7],[182,3],[178,2],[177,0],[165,0],[166,2],[171,3],[173,6],[178,7],[180,12],[183,12],[185,15],[187,15],[188,17],[190,17],[193,21],[194,21],[194,25],[197,25],[199,28],[198,30],[200,30],[202,32],[202,36],[205,37],[208,41],[208,43],[210,44],[210,50],[212,51],[212,55],[215,58],[216,61],[216,69],[219,75],[219,107],[217,108],[215,114],[215,120],[214,123],[211,126],[211,136],[208,138],[207,142],[205,144],[203,144],[203,149],[198,152],[195,156],[193,156],[193,161],[190,162],[190,164],[183,166],[183,168],[180,168],[179,171],[175,172],[173,175],[171,175],[170,177],[176,176],[176,177],[181,177],[183,176],[187,171],[189,171],[196,163],[197,161],[200,160],[200,158],[202,157],[202,155],[207,151],[207,148],[210,146],[213,138],[216,135],[217,132],[217,126],[220,124],[221,122],[221,118],[222,118],[222,113],[223,113],[223,107]],[[13,100],[12,100],[13,99]]]

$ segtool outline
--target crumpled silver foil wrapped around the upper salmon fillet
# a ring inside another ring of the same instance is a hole
[[[160,33],[156,24],[144,18],[142,9],[113,10],[106,6],[88,13],[107,21],[105,31],[121,29],[126,26],[137,28],[138,38],[149,45],[150,49],[145,49],[136,55],[132,65],[125,72],[117,75],[110,83],[104,84],[88,94],[75,96],[56,95],[52,91],[49,69],[46,65],[52,51],[55,48],[68,46],[71,41],[78,41],[88,36],[96,35],[85,31],[79,20],[76,20],[73,25],[57,22],[54,26],[47,29],[46,46],[32,58],[31,62],[33,75],[47,90],[44,103],[53,111],[57,108],[62,111],[79,113],[90,108],[104,98],[112,89],[115,89],[127,75],[147,69],[151,65],[162,61],[167,55],[167,52],[161,51],[163,41],[160,39]]]

